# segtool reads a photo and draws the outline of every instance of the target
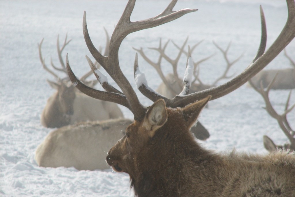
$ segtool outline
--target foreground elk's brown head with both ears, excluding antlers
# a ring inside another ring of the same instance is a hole
[[[146,157],[148,154],[152,156],[158,150],[171,150],[169,147],[171,144],[166,144],[165,138],[178,138],[182,141],[181,138],[190,133],[189,129],[210,98],[211,96],[208,96],[177,109],[167,108],[163,99],[157,100],[150,106],[142,121],[135,121],[127,127],[125,136],[108,152],[107,163],[115,171],[126,172],[131,176],[139,165],[153,165],[151,163],[137,164],[137,159]],[[193,136],[188,136],[194,139]],[[185,141],[189,142],[189,140]],[[165,162],[165,159],[163,161]]]

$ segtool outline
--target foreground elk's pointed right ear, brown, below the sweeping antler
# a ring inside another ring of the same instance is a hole
[[[191,126],[193,126],[196,122],[201,110],[205,107],[210,98],[211,95],[182,108],[182,113],[188,128],[191,128]]]

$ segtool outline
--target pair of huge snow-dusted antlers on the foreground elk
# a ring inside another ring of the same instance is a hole
[[[148,87],[144,74],[142,74],[138,69],[138,60],[136,55],[135,64],[134,64],[134,68],[135,68],[134,74],[135,74],[135,79],[137,82],[138,89],[140,90],[140,92],[142,92],[143,95],[145,95],[146,97],[148,97],[150,100],[154,102],[160,98],[164,99],[166,102],[166,105],[172,108],[183,107],[191,102],[204,98],[208,95],[212,95],[212,99],[216,99],[232,92],[233,90],[237,89],[242,84],[247,82],[250,78],[252,78],[255,74],[257,74],[261,69],[263,69],[295,37],[295,3],[294,3],[294,0],[286,0],[286,1],[288,6],[288,12],[289,12],[286,25],[281,31],[281,34],[278,36],[276,41],[273,43],[273,45],[271,45],[271,47],[265,53],[264,53],[264,49],[266,46],[266,27],[265,27],[263,10],[260,7],[262,33],[261,33],[260,48],[258,50],[257,56],[254,58],[253,63],[250,64],[248,68],[245,69],[245,71],[243,71],[241,74],[239,74],[238,76],[236,76],[229,82],[211,89],[192,93],[186,96],[183,96],[183,95],[187,94],[187,91],[183,91],[181,95],[178,95],[174,97],[173,99],[168,99],[156,93],[150,87]],[[114,81],[117,83],[119,88],[122,90],[123,94],[119,93],[120,91],[114,89],[109,84],[107,85],[108,87],[111,87],[111,90],[109,90],[109,92],[99,91],[99,90],[95,90],[95,89],[87,87],[81,81],[79,81],[76,78],[76,76],[73,74],[73,71],[71,70],[68,63],[68,58],[66,58],[66,68],[68,70],[68,74],[71,81],[76,85],[76,87],[81,92],[84,92],[85,94],[91,97],[101,99],[101,100],[116,102],[118,104],[126,106],[134,114],[135,120],[141,120],[143,116],[145,115],[147,108],[140,104],[137,98],[137,95],[135,94],[135,91],[132,89],[130,83],[128,82],[128,80],[126,79],[126,77],[124,76],[124,74],[122,73],[119,67],[119,58],[118,58],[119,46],[121,45],[122,40],[128,34],[132,32],[151,28],[151,27],[156,27],[158,25],[177,19],[183,16],[184,14],[196,11],[196,9],[181,9],[174,12],[172,11],[172,9],[175,6],[176,2],[177,0],[172,0],[171,3],[167,6],[167,8],[161,14],[153,18],[145,19],[142,21],[131,22],[130,15],[134,8],[135,0],[129,0],[122,14],[122,17],[120,18],[112,34],[108,56],[101,55],[101,53],[99,53],[99,51],[94,47],[93,43],[91,42],[88,30],[87,30],[87,25],[86,25],[86,12],[84,12],[83,32],[84,32],[84,39],[86,41],[86,45],[88,46],[89,51],[91,52],[92,56],[94,56],[96,61],[98,61],[99,64],[101,64],[101,66],[106,70],[106,72],[112,77],[112,79],[114,79]],[[190,61],[190,58],[188,58],[188,61]],[[191,65],[188,64],[186,69],[192,70],[190,66]],[[94,69],[94,72],[96,72],[99,75],[99,72],[96,69]],[[100,76],[99,78],[103,79],[104,77]],[[105,81],[102,80],[102,82],[105,82]],[[184,83],[184,89],[186,87],[187,87],[186,83]]]

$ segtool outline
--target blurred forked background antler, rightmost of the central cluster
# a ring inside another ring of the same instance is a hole
[[[217,45],[217,43],[215,43],[213,41],[213,44],[216,46],[216,48],[219,49],[219,51],[221,51],[225,61],[226,61],[226,69],[224,71],[224,73],[219,77],[217,78],[214,82],[213,82],[213,86],[215,86],[217,84],[217,82],[219,82],[221,79],[229,79],[231,78],[234,74],[230,75],[230,76],[227,76],[228,74],[228,71],[230,70],[230,68],[232,67],[232,65],[234,65],[237,61],[240,60],[240,58],[243,56],[243,54],[241,54],[238,58],[236,58],[235,60],[233,60],[232,62],[230,62],[230,60],[228,59],[227,57],[227,52],[228,50],[230,49],[230,45],[231,45],[231,42],[227,45],[227,48],[225,50],[223,50],[219,45]]]

